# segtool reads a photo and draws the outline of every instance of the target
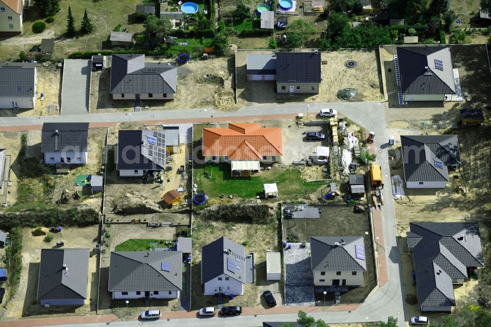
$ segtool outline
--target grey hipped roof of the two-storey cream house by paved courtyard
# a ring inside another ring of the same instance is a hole
[[[346,244],[342,245],[341,242]],[[312,272],[366,272],[366,261],[356,258],[355,245],[362,246],[364,250],[363,237],[311,237],[310,265]]]

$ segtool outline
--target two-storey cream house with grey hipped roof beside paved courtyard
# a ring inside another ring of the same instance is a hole
[[[364,285],[363,273],[367,267],[363,237],[311,237],[310,253],[314,286]]]

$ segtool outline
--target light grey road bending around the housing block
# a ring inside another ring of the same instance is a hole
[[[388,154],[385,144],[387,143],[387,133],[385,125],[384,103],[378,102],[346,102],[346,103],[311,103],[308,112],[310,116],[318,113],[320,109],[337,109],[340,113],[355,121],[357,124],[376,133],[375,153],[377,162],[382,168],[383,183],[391,185]],[[307,104],[294,105],[264,105],[244,107],[235,112],[219,112],[214,109],[188,109],[188,110],[162,110],[162,111],[139,111],[131,113],[132,121],[159,121],[163,123],[180,122],[205,122],[220,119],[240,120],[240,119],[274,119],[284,118],[285,115],[307,112]],[[227,119],[229,118],[229,119]],[[8,117],[0,118],[0,130],[8,126],[41,125],[44,122],[89,122],[89,123],[109,123],[129,121],[130,116],[126,112],[121,113],[99,113],[86,115],[64,115],[64,116],[39,116],[39,117]],[[387,265],[388,282],[383,285],[375,294],[366,300],[355,311],[323,312],[312,313],[315,319],[323,319],[326,323],[355,323],[355,322],[376,322],[386,321],[388,316],[398,318],[399,326],[407,326],[404,321],[410,317],[404,315],[404,294],[401,288],[401,275],[399,265],[399,251],[396,242],[396,221],[394,212],[394,199],[391,188],[387,187],[384,192],[384,206],[382,208],[382,222],[385,244],[385,256]],[[171,319],[160,320],[157,322],[118,322],[102,324],[82,324],[80,326],[102,327],[114,325],[117,327],[126,326],[223,326],[227,324],[234,327],[262,326],[264,321],[296,321],[296,314],[281,315],[259,315],[259,316],[239,316],[239,317],[213,317],[207,319]]]

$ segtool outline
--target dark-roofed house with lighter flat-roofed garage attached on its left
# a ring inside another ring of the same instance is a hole
[[[247,54],[248,81],[276,81],[277,93],[319,93],[321,54],[291,52]]]

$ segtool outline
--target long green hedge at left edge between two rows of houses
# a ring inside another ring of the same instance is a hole
[[[44,212],[4,212],[0,213],[0,228],[38,227],[38,226],[88,226],[98,224],[99,213],[90,209],[48,209]]]

